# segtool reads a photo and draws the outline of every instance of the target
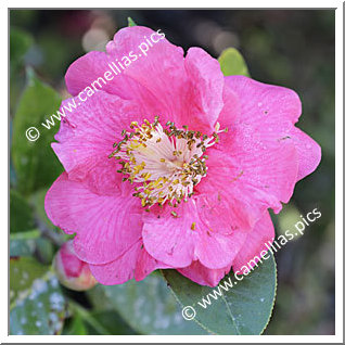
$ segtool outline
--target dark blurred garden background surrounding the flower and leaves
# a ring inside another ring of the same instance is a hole
[[[276,255],[277,302],[272,319],[264,334],[334,334],[335,12],[11,11],[12,137],[18,135],[14,131],[12,133],[12,122],[18,111],[26,74],[34,69],[36,75],[58,90],[63,99],[67,98],[63,79],[66,68],[88,51],[104,50],[114,33],[127,26],[128,16],[138,25],[149,26],[155,30],[161,28],[167,39],[184,50],[197,46],[218,58],[223,49],[234,47],[244,56],[254,79],[281,85],[294,89],[299,94],[303,116],[297,126],[321,145],[322,161],[311,176],[297,183],[291,203],[272,218],[277,234],[280,234],[292,229],[301,219],[301,215],[304,216],[316,207],[322,216],[305,230],[303,237],[288,243]],[[27,66],[31,66],[31,69]],[[31,125],[35,125],[35,120]],[[48,136],[51,142],[53,131]],[[22,140],[26,141],[24,137]],[[51,149],[47,144],[44,150]],[[25,157],[20,158],[23,161]],[[13,159],[12,155],[11,161]],[[56,161],[54,156],[53,159]],[[16,213],[17,209],[23,209],[21,203],[28,203],[28,208],[34,212],[30,229],[38,228],[42,232],[46,231],[47,235],[49,226],[44,223],[46,218],[42,220],[44,209],[41,195],[60,173],[61,167],[53,171],[54,176],[47,178],[48,173],[43,169],[35,175],[36,180],[31,182],[30,188],[23,188],[18,180],[21,174],[27,174],[27,170],[17,171],[11,162],[11,234],[20,231],[12,227],[13,222],[20,228],[25,228],[24,225],[28,222],[24,219],[27,215],[20,216]],[[36,244],[35,248],[35,255],[42,264],[51,261],[60,240],[49,239],[47,235],[44,241],[47,242]],[[68,291],[65,293],[79,302],[85,310],[89,310],[88,312],[99,320],[107,333],[137,333],[115,311],[93,311],[89,295]],[[79,315],[82,312],[79,310]],[[115,315],[117,327],[114,329],[112,321]],[[69,318],[64,334],[106,334],[98,329],[97,323],[92,328],[89,324],[84,325],[82,321],[78,322]]]

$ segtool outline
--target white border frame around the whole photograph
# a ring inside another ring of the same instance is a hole
[[[30,2],[23,0],[7,1],[5,7],[1,7],[1,41],[2,47],[9,44],[9,23],[8,23],[8,11],[9,8],[26,8],[27,5],[33,8],[41,9],[52,9],[53,5],[47,3],[42,0],[33,0]],[[64,9],[71,8],[73,4],[74,8],[105,8],[111,9],[111,5],[115,3],[113,1],[98,0],[97,3],[87,3],[85,1],[71,1],[71,0],[60,0],[59,5]],[[97,4],[97,7],[95,7]],[[123,4],[123,5],[122,5]],[[125,5],[126,4],[126,5]],[[126,2],[117,2],[116,9],[143,9],[143,2],[139,0],[127,0]],[[156,9],[193,9],[200,8],[201,5],[208,8],[209,3],[201,3],[196,0],[186,1],[186,0],[175,0],[164,2],[166,4],[162,8],[162,1],[145,1],[145,9],[156,8]],[[241,0],[237,2],[229,2],[225,0],[213,0],[213,8],[210,9],[226,9],[231,5],[231,9],[336,9],[335,11],[335,335],[8,335],[8,284],[2,282],[0,285],[1,291],[1,322],[0,322],[0,341],[1,343],[180,343],[180,342],[190,342],[190,343],[343,343],[343,2],[342,1],[305,1],[305,0],[290,0],[290,1],[267,1],[261,0],[259,2],[252,0]],[[258,8],[257,5],[260,4]],[[7,44],[8,43],[8,44]],[[8,46],[9,47],[9,46]],[[1,157],[2,162],[8,162],[8,142],[9,142],[9,131],[8,131],[8,104],[9,100],[9,90],[8,90],[8,55],[1,54],[1,75],[5,76],[1,84],[1,105],[3,108],[3,114],[0,116],[0,128],[2,130],[1,136]],[[5,219],[4,227],[2,228],[2,233],[7,233],[5,229],[9,228],[9,186],[8,186],[8,174],[4,173],[4,168],[1,169],[1,184],[3,190],[7,191],[7,195],[2,192],[2,203],[1,203],[1,219]],[[5,207],[8,205],[8,207]],[[3,239],[0,242],[0,254],[1,254],[1,272],[2,277],[8,276],[8,239]],[[316,263],[317,265],[317,263]]]

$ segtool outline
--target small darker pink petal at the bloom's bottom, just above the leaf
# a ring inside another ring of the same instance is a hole
[[[200,261],[193,261],[192,265],[179,268],[178,271],[200,285],[217,286],[219,281],[228,274],[231,265],[220,269],[209,269]]]

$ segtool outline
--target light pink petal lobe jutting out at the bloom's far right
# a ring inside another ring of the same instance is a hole
[[[298,154],[297,180],[302,180],[318,167],[321,161],[321,148],[299,128],[294,127],[290,133]]]

